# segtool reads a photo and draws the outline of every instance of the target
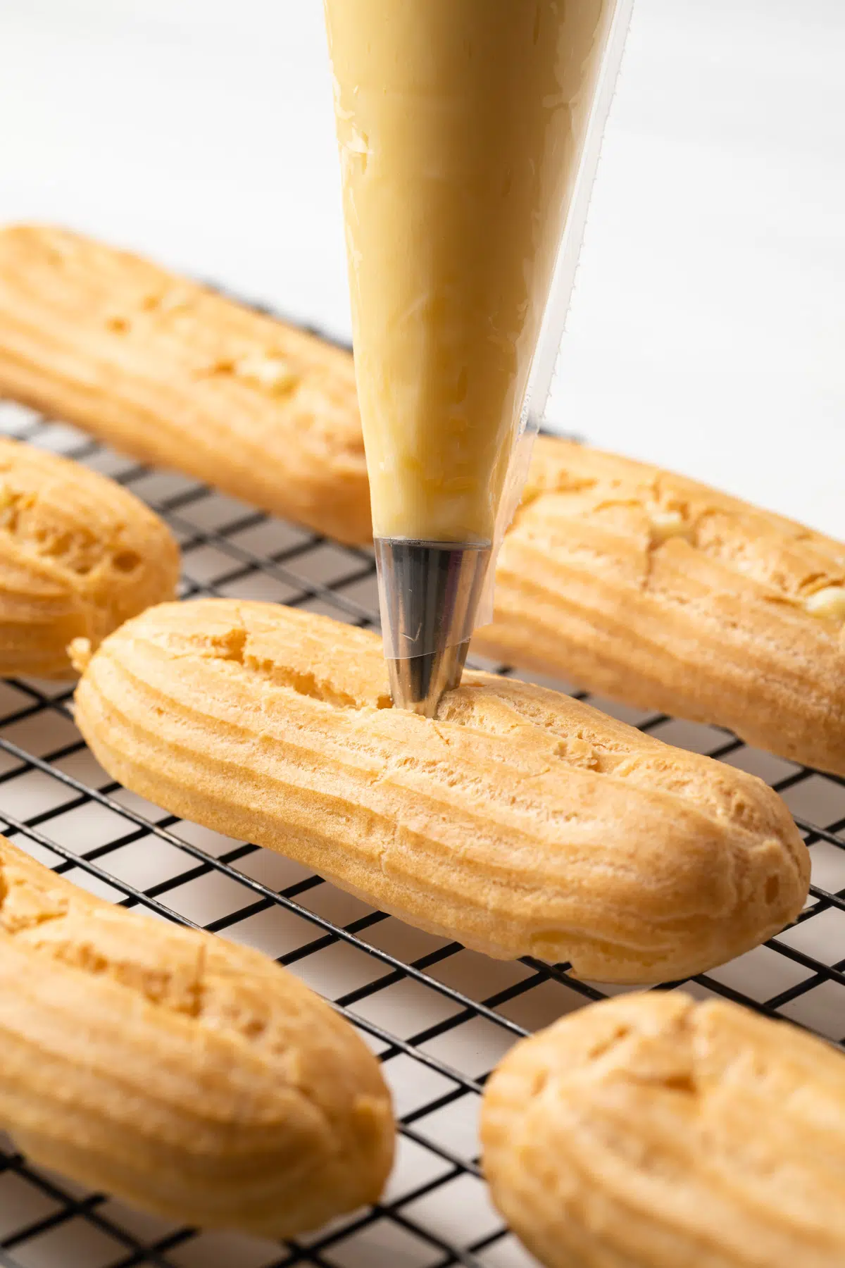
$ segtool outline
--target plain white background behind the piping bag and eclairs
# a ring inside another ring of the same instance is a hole
[[[637,0],[551,406],[837,535],[844,67],[842,0]],[[0,0],[24,217],[347,333],[319,0]]]

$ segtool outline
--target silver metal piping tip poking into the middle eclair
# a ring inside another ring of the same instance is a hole
[[[376,538],[375,559],[394,708],[433,718],[461,681],[490,547]]]

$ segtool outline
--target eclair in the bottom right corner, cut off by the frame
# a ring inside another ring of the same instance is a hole
[[[736,1004],[592,1004],[488,1082],[492,1196],[547,1268],[841,1268],[845,1056]]]

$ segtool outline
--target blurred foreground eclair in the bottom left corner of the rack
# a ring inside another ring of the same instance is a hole
[[[300,981],[5,838],[0,1127],[142,1210],[265,1236],[375,1201],[393,1155],[378,1061]]]

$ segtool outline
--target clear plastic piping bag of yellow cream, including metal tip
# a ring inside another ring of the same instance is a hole
[[[493,616],[633,0],[324,0],[394,708]]]

